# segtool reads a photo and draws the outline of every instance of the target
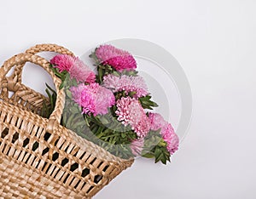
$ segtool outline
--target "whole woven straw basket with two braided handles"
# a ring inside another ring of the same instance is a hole
[[[0,69],[0,196],[4,198],[90,198],[133,160],[113,156],[60,125],[65,94],[61,80],[40,51],[71,54],[47,44],[4,62]],[[49,119],[41,117],[46,97],[21,83],[26,62],[40,65],[53,78],[57,93]],[[10,77],[7,72],[15,67]]]

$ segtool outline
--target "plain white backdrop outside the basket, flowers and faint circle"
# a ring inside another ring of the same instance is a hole
[[[140,159],[95,198],[253,199],[255,10],[255,0],[1,1],[0,61],[36,43],[77,55],[123,37],[158,43],[189,78],[189,134],[171,164]]]

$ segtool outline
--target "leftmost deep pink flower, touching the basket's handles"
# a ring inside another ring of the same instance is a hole
[[[96,76],[93,71],[78,57],[73,57],[67,54],[58,54],[50,63],[55,65],[60,72],[67,71],[70,77],[75,78],[77,82],[95,82]]]

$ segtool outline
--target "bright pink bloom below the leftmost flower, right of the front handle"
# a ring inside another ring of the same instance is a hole
[[[78,87],[72,87],[70,90],[73,100],[82,106],[83,113],[88,115],[107,114],[108,108],[115,103],[113,93],[98,83],[90,83],[90,85],[81,83]]]

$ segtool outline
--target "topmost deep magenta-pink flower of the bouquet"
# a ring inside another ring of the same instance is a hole
[[[136,60],[130,53],[112,45],[96,48],[96,57],[103,65],[111,65],[116,71],[131,71],[137,68]]]

